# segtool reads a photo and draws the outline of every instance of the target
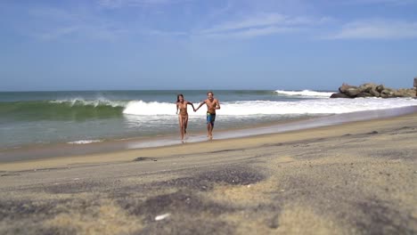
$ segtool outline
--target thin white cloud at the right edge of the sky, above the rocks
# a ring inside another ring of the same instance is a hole
[[[417,22],[404,20],[360,20],[347,23],[329,39],[417,38]]]

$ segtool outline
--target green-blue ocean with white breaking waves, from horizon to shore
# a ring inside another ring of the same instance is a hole
[[[176,94],[194,106],[207,91],[85,91],[0,93],[0,149],[80,145],[171,136],[179,140]],[[417,105],[409,98],[330,99],[332,91],[214,91],[217,131],[267,126],[303,118]],[[205,107],[189,106],[188,134],[204,136]]]

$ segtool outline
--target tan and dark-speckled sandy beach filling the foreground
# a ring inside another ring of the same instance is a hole
[[[415,234],[416,142],[414,113],[2,163],[0,234]]]

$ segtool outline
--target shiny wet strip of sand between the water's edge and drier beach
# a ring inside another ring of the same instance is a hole
[[[376,109],[333,114],[323,117],[298,118],[280,120],[251,127],[229,128],[216,131],[215,140],[238,139],[242,137],[264,134],[281,134],[285,132],[311,129],[320,126],[337,126],[349,122],[393,118],[417,112],[417,106],[397,109]],[[206,142],[205,132],[187,135],[186,143]],[[176,135],[162,135],[156,137],[134,137],[128,139],[114,139],[86,144],[54,143],[41,144],[23,148],[0,150],[0,166],[2,163],[41,160],[44,158],[68,158],[97,155],[102,153],[118,153],[124,150],[140,150],[149,148],[164,148],[182,144]],[[117,159],[115,159],[117,161]]]

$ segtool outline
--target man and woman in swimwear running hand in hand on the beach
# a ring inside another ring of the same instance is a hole
[[[216,109],[220,109],[220,102],[214,98],[213,92],[207,93],[207,99],[200,102],[200,106],[195,109],[194,105],[190,101],[184,100],[184,95],[182,93],[176,96],[176,114],[178,114],[179,109],[179,127],[181,142],[184,142],[184,135],[187,133],[187,124],[188,124],[188,112],[187,105],[191,105],[194,112],[196,112],[203,104],[207,105],[207,137],[209,140],[213,139],[213,127],[216,120]]]

